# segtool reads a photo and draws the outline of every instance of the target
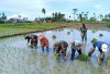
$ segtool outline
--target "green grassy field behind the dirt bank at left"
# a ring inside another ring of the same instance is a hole
[[[7,23],[0,24],[0,36],[12,35],[18,33],[26,33],[37,29],[48,29],[55,27],[62,27],[64,24],[62,23],[42,23],[42,24],[34,24],[34,23]]]

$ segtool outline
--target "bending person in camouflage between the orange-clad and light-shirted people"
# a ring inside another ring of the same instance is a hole
[[[61,40],[61,41],[56,41],[54,44],[54,54],[55,55],[63,55],[63,58],[66,57],[66,50],[67,50],[67,47],[68,47],[68,44],[64,40]]]

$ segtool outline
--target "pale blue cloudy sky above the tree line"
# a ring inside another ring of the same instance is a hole
[[[77,13],[89,12],[89,16],[105,15],[110,13],[110,0],[0,0],[0,13],[4,12],[8,18],[22,15],[33,21],[44,17],[42,9],[46,10],[45,16],[61,12],[66,18],[74,18],[73,9],[78,9]]]

